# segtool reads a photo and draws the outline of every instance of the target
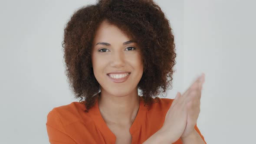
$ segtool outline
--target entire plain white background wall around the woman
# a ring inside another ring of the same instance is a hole
[[[168,98],[206,74],[197,125],[208,144],[255,143],[254,0],[156,0],[174,29]],[[48,144],[46,115],[73,98],[64,25],[95,0],[0,1],[0,144]]]

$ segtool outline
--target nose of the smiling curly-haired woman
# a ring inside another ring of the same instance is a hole
[[[116,67],[116,68],[125,66],[125,55],[123,52],[121,51],[113,52],[111,57],[112,58],[111,58],[110,66]]]

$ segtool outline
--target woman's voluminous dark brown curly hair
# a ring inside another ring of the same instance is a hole
[[[95,31],[108,20],[141,47],[143,75],[138,88],[148,108],[161,90],[171,86],[176,64],[174,35],[169,20],[153,0],[98,0],[76,10],[64,29],[62,47],[69,87],[88,110],[95,104],[100,85],[92,69],[91,50]]]

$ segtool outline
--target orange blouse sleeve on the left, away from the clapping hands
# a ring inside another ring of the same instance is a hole
[[[47,115],[46,129],[50,144],[77,144],[66,134],[62,121],[55,108]]]

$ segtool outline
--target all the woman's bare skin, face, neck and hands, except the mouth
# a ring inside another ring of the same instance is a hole
[[[137,85],[143,74],[143,61],[137,43],[125,43],[131,40],[134,41],[118,27],[103,21],[95,33],[92,47],[93,72],[101,86],[98,106],[102,118],[116,136],[116,144],[131,144],[129,128],[139,108]],[[108,78],[107,73],[119,70],[131,72],[126,82],[115,83]],[[144,144],[171,144],[180,137],[184,144],[204,144],[194,130],[200,113],[203,82],[204,74],[183,95],[177,93],[163,127]]]

